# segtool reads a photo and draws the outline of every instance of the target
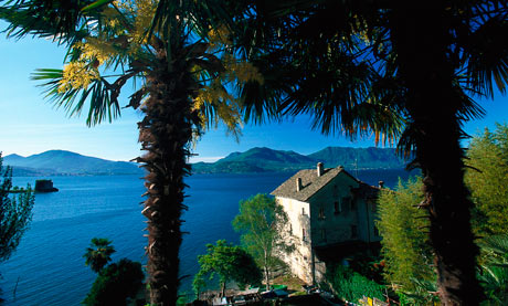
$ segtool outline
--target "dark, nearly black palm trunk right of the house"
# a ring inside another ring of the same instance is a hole
[[[400,1],[391,15],[391,40],[408,89],[409,134],[424,177],[424,207],[431,218],[437,285],[443,305],[478,305],[476,256],[470,229],[473,205],[464,184],[464,151],[454,89],[448,19],[441,1]]]

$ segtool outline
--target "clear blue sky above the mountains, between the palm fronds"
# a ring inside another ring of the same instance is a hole
[[[0,23],[0,29],[3,23]],[[141,115],[124,109],[121,118],[98,126],[86,127],[86,114],[68,118],[63,109],[55,109],[42,94],[36,82],[30,81],[35,68],[62,67],[64,49],[39,39],[20,41],[0,36],[0,151],[3,155],[29,156],[50,149],[63,149],[110,160],[129,160],[139,155],[137,125]],[[127,94],[123,95],[124,97]],[[123,105],[127,104],[126,99]],[[480,102],[487,115],[467,123],[468,134],[484,127],[494,128],[508,115],[508,98],[496,95],[495,101]],[[245,125],[240,143],[219,127],[209,130],[194,148],[199,154],[193,161],[213,161],[233,151],[253,147],[269,147],[311,154],[327,146],[369,147],[372,137],[350,141],[336,135],[325,137],[310,128],[310,119],[299,116],[282,123],[263,126]]]

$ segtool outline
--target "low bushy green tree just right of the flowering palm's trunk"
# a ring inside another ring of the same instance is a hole
[[[200,271],[194,276],[193,287],[197,293],[204,285],[204,277],[210,279],[219,277],[222,296],[225,296],[225,287],[230,281],[245,286],[247,284],[258,284],[262,275],[254,258],[242,247],[233,246],[225,240],[219,240],[216,245],[207,244],[207,254],[199,255],[198,262]]]

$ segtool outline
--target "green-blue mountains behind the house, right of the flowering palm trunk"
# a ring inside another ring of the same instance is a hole
[[[192,165],[194,173],[245,173],[285,172],[316,167],[343,166],[346,169],[401,169],[404,161],[395,156],[394,149],[328,147],[308,156],[295,151],[253,148],[245,152],[233,152],[215,162]]]

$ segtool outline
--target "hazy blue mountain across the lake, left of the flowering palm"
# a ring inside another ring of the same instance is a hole
[[[29,157],[9,155],[3,158],[3,163],[6,166],[13,166],[14,176],[107,176],[142,173],[142,170],[139,169],[136,163],[112,161],[64,150],[50,150]]]

